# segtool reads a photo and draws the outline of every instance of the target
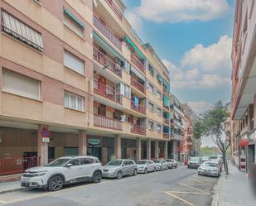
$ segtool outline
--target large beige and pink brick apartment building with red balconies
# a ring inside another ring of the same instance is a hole
[[[168,156],[169,71],[121,0],[0,7],[0,175],[60,156]]]

